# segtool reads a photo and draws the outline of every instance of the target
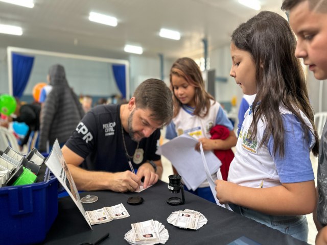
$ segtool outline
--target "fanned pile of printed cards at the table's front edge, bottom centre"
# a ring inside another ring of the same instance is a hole
[[[168,230],[157,220],[147,220],[132,224],[132,229],[125,234],[125,240],[129,244],[166,243],[169,238]]]

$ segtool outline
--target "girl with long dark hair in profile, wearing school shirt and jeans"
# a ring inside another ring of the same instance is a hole
[[[231,36],[230,76],[255,100],[243,121],[228,182],[217,198],[233,211],[300,240],[316,205],[310,151],[318,136],[305,75],[288,22],[262,11]]]

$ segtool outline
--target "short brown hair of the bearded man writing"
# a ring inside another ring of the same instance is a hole
[[[136,108],[149,109],[151,117],[165,126],[173,118],[173,95],[165,82],[147,79],[137,86],[133,94]]]

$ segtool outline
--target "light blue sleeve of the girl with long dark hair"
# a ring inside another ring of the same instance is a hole
[[[314,173],[310,160],[310,142],[313,135],[310,133],[309,140],[305,139],[300,121],[295,115],[282,115],[284,124],[284,149],[282,158],[278,151],[274,155],[272,136],[268,141],[268,149],[273,157],[276,170],[281,183],[296,183],[314,180]]]

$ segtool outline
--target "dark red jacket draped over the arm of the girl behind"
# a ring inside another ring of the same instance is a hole
[[[225,126],[216,125],[210,130],[211,139],[226,139],[229,136],[229,129]],[[214,150],[215,155],[221,161],[220,166],[221,175],[223,180],[227,180],[229,165],[234,158],[234,153],[231,149],[229,150]]]

